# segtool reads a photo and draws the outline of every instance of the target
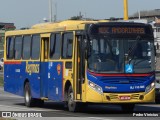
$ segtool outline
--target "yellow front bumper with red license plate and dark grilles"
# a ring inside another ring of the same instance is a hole
[[[138,93],[98,93],[88,87],[86,91],[86,102],[91,103],[153,103],[155,102],[155,88],[147,94]]]

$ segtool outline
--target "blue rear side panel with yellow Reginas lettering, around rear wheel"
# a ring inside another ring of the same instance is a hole
[[[26,68],[26,65],[28,66]],[[29,81],[33,98],[40,98],[39,62],[16,62],[5,64],[4,90],[16,95],[24,96],[24,82]],[[38,72],[38,73],[37,73]]]

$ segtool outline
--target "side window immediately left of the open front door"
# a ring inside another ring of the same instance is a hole
[[[63,35],[62,58],[72,58],[73,52],[73,33],[65,33]]]

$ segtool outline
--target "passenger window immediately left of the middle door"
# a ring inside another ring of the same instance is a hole
[[[39,59],[40,54],[40,36],[33,35],[32,36],[32,51],[31,51],[31,58],[33,60]]]

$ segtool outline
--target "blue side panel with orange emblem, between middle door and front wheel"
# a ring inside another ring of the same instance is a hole
[[[63,63],[49,62],[48,97],[54,101],[63,100]]]

